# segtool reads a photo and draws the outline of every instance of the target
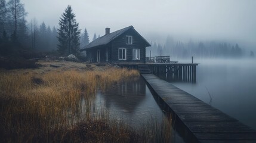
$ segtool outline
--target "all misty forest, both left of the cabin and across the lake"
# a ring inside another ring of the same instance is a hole
[[[57,56],[81,55],[79,49],[90,42],[88,31],[81,29],[72,7],[60,15],[58,26],[26,19],[28,13],[20,0],[0,0],[0,55],[36,58],[49,53]],[[67,21],[70,19],[70,21]],[[94,33],[92,40],[100,37]],[[180,41],[167,36],[165,43],[151,43],[147,56],[170,55],[173,59],[254,57],[238,43],[223,41]],[[150,54],[151,53],[151,54]],[[163,54],[164,53],[164,54]]]

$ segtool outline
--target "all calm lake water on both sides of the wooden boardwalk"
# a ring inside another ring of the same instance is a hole
[[[256,129],[256,61],[195,59],[194,63],[200,63],[196,83],[172,84]],[[111,86],[106,93],[98,91],[96,102],[109,110],[110,117],[125,120],[134,128],[150,117],[165,117],[141,78]],[[172,142],[184,142],[175,130]]]

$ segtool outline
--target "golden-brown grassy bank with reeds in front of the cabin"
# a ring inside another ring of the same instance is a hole
[[[121,80],[138,77],[138,71],[42,65],[44,69],[0,71],[1,141],[148,142],[169,138],[165,133],[171,129],[170,122],[159,125],[152,120],[134,130],[122,121],[110,120],[105,109],[95,111],[97,89],[104,91]]]

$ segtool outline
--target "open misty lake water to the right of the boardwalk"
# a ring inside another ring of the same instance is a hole
[[[194,63],[200,63],[196,83],[173,85],[256,129],[256,59]]]

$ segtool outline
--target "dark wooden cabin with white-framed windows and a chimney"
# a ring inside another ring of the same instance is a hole
[[[88,59],[98,63],[145,63],[146,47],[151,46],[133,26],[106,34],[90,42],[81,51],[87,52]]]

